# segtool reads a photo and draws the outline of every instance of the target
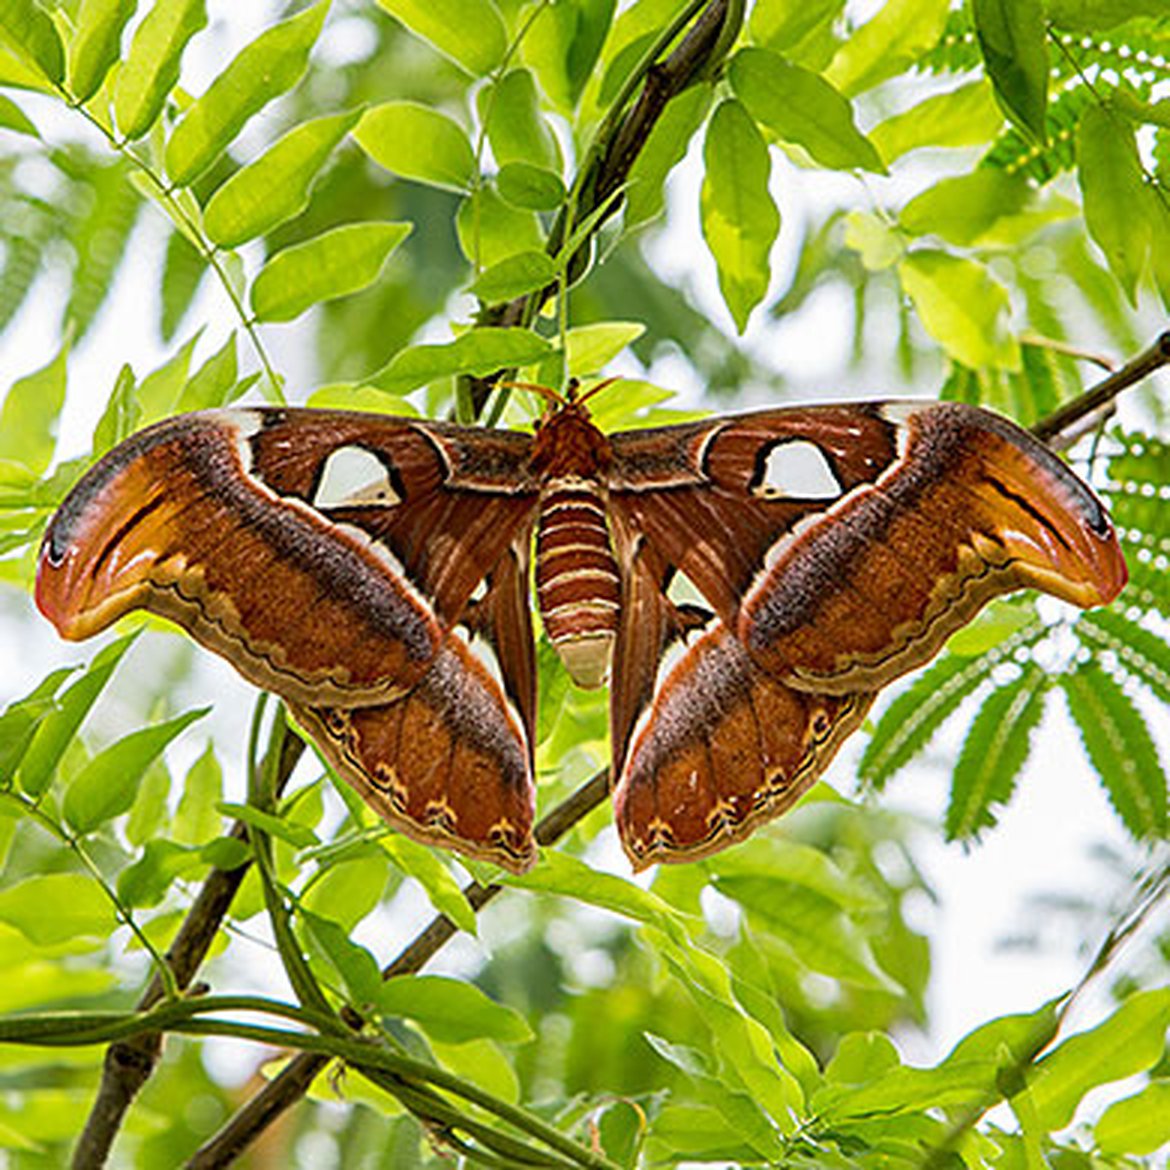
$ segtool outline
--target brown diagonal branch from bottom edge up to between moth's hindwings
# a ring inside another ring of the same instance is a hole
[[[552,845],[579,820],[592,812],[608,792],[608,773],[598,772],[572,796],[550,810],[536,826],[536,840]],[[463,890],[474,910],[487,906],[502,886],[472,882]],[[384,979],[412,975],[422,969],[456,934],[457,927],[446,915],[436,915],[381,972]],[[359,1019],[350,1023],[360,1025]],[[318,1073],[329,1064],[328,1057],[304,1052],[290,1060],[252,1100],[228,1120],[187,1162],[187,1170],[213,1170],[234,1162],[281,1114],[296,1104],[309,1090]]]

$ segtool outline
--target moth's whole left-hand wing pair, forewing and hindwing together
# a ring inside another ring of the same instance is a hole
[[[133,608],[177,621],[292,704],[387,819],[522,867],[528,455],[518,434],[349,412],[172,419],[62,504],[37,604],[68,638]]]

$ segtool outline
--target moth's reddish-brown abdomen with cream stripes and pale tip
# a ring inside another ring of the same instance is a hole
[[[536,534],[536,593],[545,632],[573,682],[603,686],[621,589],[605,503],[590,480],[557,479],[544,490]]]

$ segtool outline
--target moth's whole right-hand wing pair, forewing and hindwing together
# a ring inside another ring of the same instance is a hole
[[[1088,488],[970,407],[766,411],[612,441],[614,810],[635,868],[785,811],[874,691],[991,597],[1096,605],[1126,580]],[[667,597],[676,571],[706,617]]]

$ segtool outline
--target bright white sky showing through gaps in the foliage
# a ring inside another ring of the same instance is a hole
[[[184,77],[195,94],[202,91],[239,46],[264,26],[269,5],[212,0],[208,8],[212,23],[197,37],[185,60]],[[373,19],[384,18],[376,14]],[[331,33],[332,23],[326,23],[326,41],[318,49],[329,56],[347,51],[344,30],[335,28]],[[43,110],[44,116],[40,109],[36,116],[42,132],[49,138],[74,136],[82,129],[80,119],[62,118],[61,111],[49,105]],[[261,128],[263,118],[262,113]],[[255,132],[253,124],[246,133]],[[868,206],[872,190],[879,191],[880,198],[889,195],[880,180],[876,188],[867,188],[846,177],[799,172],[779,160],[773,180],[784,216],[776,253],[778,287],[787,280],[798,239],[793,228],[804,208],[828,192],[834,197],[845,192],[858,206]],[[648,250],[663,275],[684,283],[706,311],[731,332],[730,318],[718,296],[714,264],[698,242],[698,183],[700,172],[693,157],[673,186],[670,230],[655,240]],[[154,304],[154,266],[164,238],[159,216],[160,213],[151,209],[145,213],[131,242],[129,262],[121,270],[97,326],[71,356],[70,397],[62,435],[62,449],[67,455],[88,447],[92,425],[123,362],[129,360],[142,376],[186,340],[192,328],[207,323],[195,356],[198,364],[236,324],[226,300],[208,281],[176,346],[160,344],[156,335],[158,314]],[[144,305],[144,290],[149,290],[151,297],[149,307]],[[42,280],[20,318],[0,338],[0,387],[53,357],[62,301],[60,284]],[[762,324],[763,314],[757,311],[742,344],[783,369],[794,383],[817,387],[820,392],[828,387],[825,397],[832,397],[834,387],[840,386],[842,357],[848,352],[849,314],[849,307],[844,301],[838,303],[831,292],[814,297],[797,317],[779,324]],[[1152,337],[1158,323],[1154,317],[1151,322]],[[289,374],[294,398],[303,397],[311,388],[311,364],[303,338],[303,332],[287,326],[269,329],[266,335],[277,367]],[[241,355],[245,360],[250,357],[246,343],[241,343]],[[875,359],[878,373],[889,369],[888,362],[881,357]],[[682,384],[682,371],[674,363],[665,363],[654,376],[663,385],[687,391],[688,397],[696,388]],[[936,391],[935,384],[915,387],[915,392],[924,395]],[[874,384],[863,391],[854,388],[849,397],[880,397],[890,392],[906,393],[906,388]],[[152,641],[151,654],[157,655],[160,645],[159,640]],[[0,592],[0,707],[25,693],[53,666],[76,662],[88,658],[94,649],[92,646],[61,644],[35,614],[27,598],[12,591]],[[186,652],[177,649],[176,653]],[[194,653],[205,661],[184,688],[181,704],[177,698],[177,706],[215,702],[216,739],[223,756],[234,758],[238,745],[243,742],[253,693],[226,665],[201,652]],[[156,659],[139,655],[136,668],[154,672],[158,665]],[[125,683],[125,668],[122,680]],[[1164,710],[1148,714],[1154,716],[1163,759],[1170,759],[1170,717]],[[190,738],[194,755],[201,746],[201,734]],[[954,731],[936,741],[925,764],[907,770],[881,798],[883,804],[908,810],[927,823],[917,841],[916,856],[938,894],[937,907],[920,907],[921,924],[929,928],[935,942],[930,992],[932,1031],[925,1038],[904,1039],[903,1048],[910,1059],[937,1059],[977,1024],[1005,1012],[1032,1010],[1074,983],[1087,958],[1072,952],[1067,937],[1066,944],[1047,947],[1039,954],[1003,950],[997,944],[1005,936],[1053,925],[1055,920],[1038,921],[1035,909],[1027,906],[1031,896],[1060,893],[1081,895],[1090,902],[1113,896],[1120,882],[1116,875],[1090,859],[1094,848],[1106,846],[1126,858],[1130,866],[1140,863],[1138,851],[1124,837],[1095,777],[1083,763],[1076,732],[1058,702],[1053,703],[1048,722],[1038,731],[1035,744],[1039,751],[1019,779],[1017,797],[1003,813],[999,827],[985,834],[978,847],[947,845],[935,827],[945,806],[948,764],[957,751]],[[859,746],[859,743],[849,744],[828,775],[828,779],[846,793],[853,791],[853,764]],[[186,762],[190,760],[185,759],[176,769],[178,775]],[[1059,922],[1057,925],[1059,928]],[[1052,941],[1047,934],[1046,938]],[[370,942],[378,954],[388,954],[385,938]],[[452,961],[456,961],[455,956]],[[1087,1019],[1093,1013],[1092,1000],[1083,1011]]]

